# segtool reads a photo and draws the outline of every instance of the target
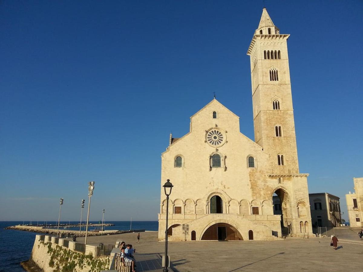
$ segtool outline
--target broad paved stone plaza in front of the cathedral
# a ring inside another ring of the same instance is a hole
[[[335,228],[339,239],[337,251],[330,246],[330,238],[287,238],[277,241],[196,241],[169,242],[168,255],[173,271],[361,271],[363,242],[357,230]],[[135,233],[91,236],[90,244],[114,244],[123,240],[136,248],[136,260],[153,259],[164,252],[164,242],[158,242],[158,232],[141,232],[136,244]],[[77,239],[78,240],[78,239]],[[84,238],[79,238],[79,241]],[[142,264],[142,263],[140,263]],[[146,264],[146,263],[145,263]],[[139,271],[141,266],[138,264]],[[154,268],[143,271],[160,271]]]

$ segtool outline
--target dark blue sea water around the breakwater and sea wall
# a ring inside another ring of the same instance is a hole
[[[29,221],[24,224],[29,224]],[[44,221],[38,222],[43,224]],[[57,222],[50,222],[48,224],[56,224]],[[61,221],[61,224],[68,224],[69,222]],[[84,223],[84,222],[82,222]],[[99,223],[92,221],[90,223]],[[107,221],[105,223],[112,223],[115,226],[105,227],[105,230],[130,230],[130,221]],[[36,232],[20,231],[20,230],[4,230],[5,227],[23,224],[23,221],[1,221],[0,222],[0,272],[12,271],[21,272],[24,269],[21,267],[20,262],[28,260],[32,253],[33,244]],[[70,224],[79,224],[78,222],[71,221]],[[36,226],[37,222],[33,221],[32,226]],[[134,230],[158,230],[158,221],[132,221],[132,229]],[[93,230],[95,227],[90,227]],[[97,228],[97,227],[96,227]],[[100,228],[100,227],[98,227]],[[71,227],[70,230],[79,230],[79,227]],[[62,230],[64,228],[62,227]],[[84,228],[82,227],[82,230]],[[42,234],[44,235],[44,234]]]

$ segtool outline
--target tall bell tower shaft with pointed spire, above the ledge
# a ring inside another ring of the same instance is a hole
[[[289,34],[280,34],[266,8],[254,32],[250,56],[255,142],[270,154],[270,170],[299,173],[287,53]]]

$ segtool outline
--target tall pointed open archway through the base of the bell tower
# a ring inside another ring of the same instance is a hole
[[[290,199],[284,189],[277,189],[272,196],[273,214],[281,215],[281,234],[287,236],[291,233]]]

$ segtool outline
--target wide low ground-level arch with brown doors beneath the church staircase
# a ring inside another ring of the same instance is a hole
[[[204,232],[201,240],[243,240],[238,230],[227,223],[217,223]]]

